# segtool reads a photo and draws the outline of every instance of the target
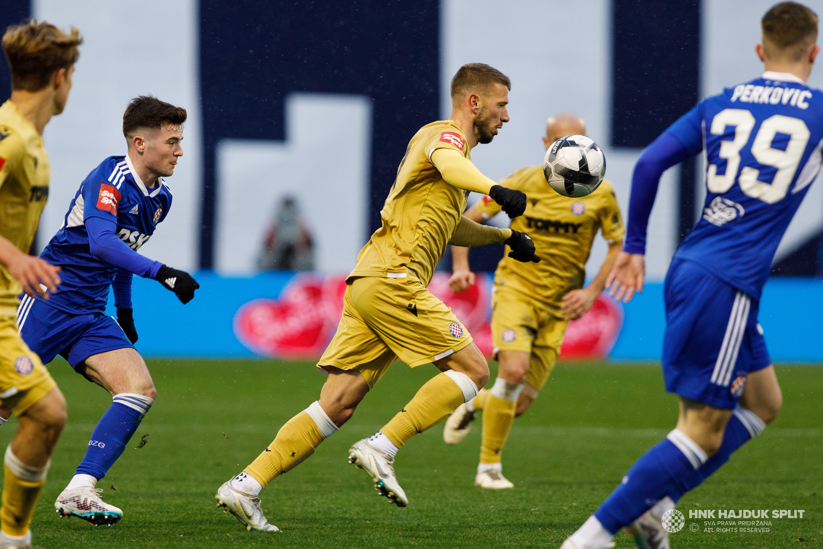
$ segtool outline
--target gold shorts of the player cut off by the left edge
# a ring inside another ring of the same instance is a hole
[[[57,387],[49,370],[29,349],[13,316],[0,317],[0,400],[15,416]]]

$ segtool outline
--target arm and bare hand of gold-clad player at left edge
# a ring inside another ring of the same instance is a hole
[[[0,187],[12,172],[19,169],[21,158],[26,154],[20,137],[11,128],[4,129],[7,134],[0,140]],[[49,299],[49,294],[40,285],[55,292],[60,284],[59,267],[21,252],[4,236],[0,236],[0,263],[6,266],[12,277],[20,282],[23,291],[31,297],[40,294],[44,299]]]

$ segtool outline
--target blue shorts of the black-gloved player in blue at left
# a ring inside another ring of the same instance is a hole
[[[77,370],[77,365],[89,356],[134,348],[112,317],[104,313],[67,313],[28,295],[21,301],[17,324],[23,341],[40,356],[43,364],[60,355]]]

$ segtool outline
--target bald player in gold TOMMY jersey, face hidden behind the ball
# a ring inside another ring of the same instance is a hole
[[[556,114],[546,123],[546,149],[560,137],[583,135],[583,119],[570,113]],[[476,410],[483,410],[480,464],[475,484],[484,488],[511,488],[502,473],[503,450],[514,417],[526,412],[546,383],[557,361],[560,343],[569,320],[586,314],[603,291],[606,277],[620,253],[624,229],[614,190],[603,181],[583,198],[556,193],[543,175],[542,166],[517,170],[501,185],[528,194],[523,216],[512,221],[514,230],[528,233],[542,254],[541,263],[514,263],[504,257],[495,272],[491,333],[500,370],[491,390],[453,413],[444,426],[444,440],[457,444],[468,433]],[[495,202],[482,198],[464,214],[484,221],[500,212]],[[597,230],[609,244],[597,277],[583,288],[585,264]],[[468,249],[452,248],[453,291],[474,283],[468,267]]]

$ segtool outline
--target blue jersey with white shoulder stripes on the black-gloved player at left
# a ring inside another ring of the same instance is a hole
[[[116,221],[115,234],[137,250],[146,244],[170,207],[171,191],[162,178],[154,188],[146,188],[128,156],[109,156],[101,162],[83,179],[63,226],[40,254],[62,268],[63,283],[47,303],[74,314],[105,311],[109,286],[119,268],[91,254],[86,220],[100,217]]]

